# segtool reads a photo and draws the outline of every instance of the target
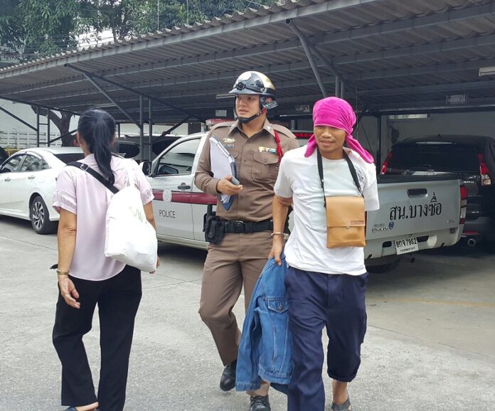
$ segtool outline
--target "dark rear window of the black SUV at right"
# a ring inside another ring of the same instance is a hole
[[[478,149],[465,144],[404,144],[395,146],[388,169],[393,171],[438,171],[477,173]]]

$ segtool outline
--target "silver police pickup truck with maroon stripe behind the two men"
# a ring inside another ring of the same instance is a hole
[[[159,241],[206,248],[203,219],[217,198],[194,185],[194,174],[206,133],[178,139],[142,163],[154,193],[153,209]],[[301,140],[304,145],[307,139]],[[398,256],[459,241],[467,191],[447,176],[379,176],[380,209],[368,213],[366,266],[383,272]]]

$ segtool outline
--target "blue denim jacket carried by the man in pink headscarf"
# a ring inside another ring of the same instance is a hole
[[[243,326],[235,389],[257,390],[261,380],[287,393],[292,375],[292,334],[284,278],[287,262],[270,258],[257,280]]]

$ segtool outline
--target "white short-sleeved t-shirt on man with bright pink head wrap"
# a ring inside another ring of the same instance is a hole
[[[378,188],[374,164],[368,164],[346,149],[363,190],[366,211],[378,210]],[[316,150],[304,157],[306,146],[287,151],[280,163],[275,194],[292,197],[294,229],[285,245],[291,267],[326,274],[361,275],[366,272],[363,247],[326,247],[324,193],[318,174]],[[346,159],[322,158],[326,196],[361,196]]]

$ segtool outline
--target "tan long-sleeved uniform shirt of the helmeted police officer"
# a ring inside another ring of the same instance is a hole
[[[196,171],[196,186],[204,193],[219,196],[216,191],[218,178],[213,178],[211,173],[211,136],[216,137],[235,158],[237,178],[243,185],[243,190],[234,196],[228,211],[218,200],[218,217],[242,221],[272,219],[273,186],[279,170],[275,130],[280,137],[283,154],[299,147],[296,137],[289,129],[270,124],[268,120],[265,120],[261,131],[251,137],[242,132],[238,121],[216,124],[208,133]]]

